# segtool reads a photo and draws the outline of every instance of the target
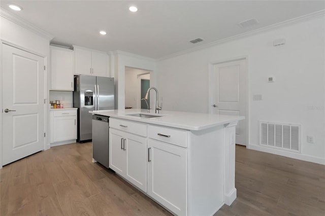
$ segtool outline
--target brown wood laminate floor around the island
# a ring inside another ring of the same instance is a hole
[[[171,215],[92,163],[91,142],[52,147],[0,170],[0,215]],[[204,176],[202,176],[204,177]],[[325,215],[325,166],[236,146],[237,199],[217,215]]]

